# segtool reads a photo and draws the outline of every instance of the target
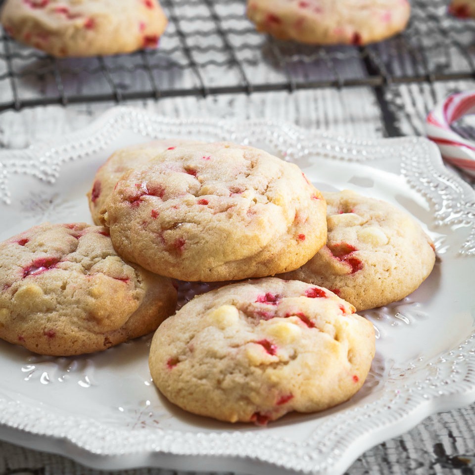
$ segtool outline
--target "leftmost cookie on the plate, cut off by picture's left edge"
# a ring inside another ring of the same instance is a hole
[[[80,355],[153,332],[174,313],[169,279],[123,261],[106,228],[35,226],[0,243],[0,338]]]

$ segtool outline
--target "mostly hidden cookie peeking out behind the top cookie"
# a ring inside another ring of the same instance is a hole
[[[87,196],[93,221],[98,226],[105,223],[105,203],[115,184],[124,172],[146,163],[157,153],[183,143],[198,143],[183,139],[157,140],[116,150],[97,170],[94,182]]]

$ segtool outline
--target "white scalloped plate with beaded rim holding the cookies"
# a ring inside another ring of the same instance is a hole
[[[434,271],[409,297],[366,312],[378,333],[371,374],[332,410],[267,427],[228,425],[163,400],[148,373],[149,337],[76,358],[0,341],[1,438],[98,469],[338,475],[429,414],[475,401],[475,193],[426,139],[350,140],[118,107],[81,132],[1,152],[0,239],[46,220],[91,222],[85,193],[106,157],[170,137],[259,146],[297,163],[321,189],[350,188],[408,210],[436,243]]]

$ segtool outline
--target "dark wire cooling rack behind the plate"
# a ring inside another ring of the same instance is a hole
[[[161,0],[156,50],[55,59],[0,41],[0,111],[185,95],[295,91],[475,78],[475,21],[414,0],[407,30],[367,47],[311,47],[257,33],[245,0]]]

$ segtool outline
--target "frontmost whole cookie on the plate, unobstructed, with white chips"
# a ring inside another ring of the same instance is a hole
[[[155,332],[153,382],[186,411],[266,423],[349,399],[375,354],[373,325],[327,289],[276,278],[199,295]]]

